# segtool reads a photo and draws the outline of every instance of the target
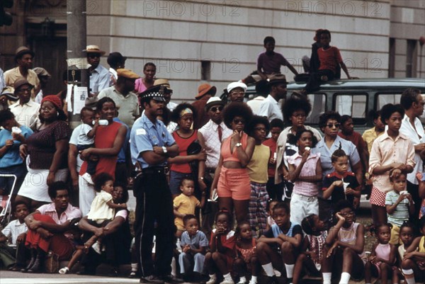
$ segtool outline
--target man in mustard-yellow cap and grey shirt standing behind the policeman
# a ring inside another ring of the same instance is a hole
[[[135,89],[135,81],[140,76],[128,69],[117,69],[118,79],[114,86],[103,89],[98,94],[98,99],[107,96],[115,101],[118,110],[118,118],[132,127],[136,118],[140,116],[138,99],[132,91]]]

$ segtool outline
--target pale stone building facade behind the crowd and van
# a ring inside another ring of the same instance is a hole
[[[146,62],[167,78],[176,101],[192,100],[208,81],[222,90],[256,69],[263,38],[302,72],[314,30],[331,30],[352,76],[425,78],[424,0],[86,0],[87,44],[128,57],[126,67],[142,74]],[[68,7],[69,8],[69,7]],[[53,74],[62,88],[66,68],[65,0],[16,0],[13,25],[0,28],[0,67],[14,66],[16,47],[27,45],[35,65]],[[68,35],[72,38],[72,35]],[[101,63],[107,66],[106,57]],[[44,66],[43,66],[44,65]],[[282,68],[288,79],[290,70]],[[343,74],[343,78],[344,78]]]

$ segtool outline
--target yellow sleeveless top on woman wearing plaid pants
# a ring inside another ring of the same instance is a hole
[[[247,166],[249,179],[254,183],[267,183],[268,181],[268,159],[270,159],[270,148],[266,145],[255,145],[254,154]]]

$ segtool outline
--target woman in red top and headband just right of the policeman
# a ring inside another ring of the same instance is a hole
[[[198,139],[198,130],[191,129],[193,119],[196,118],[195,108],[188,103],[181,103],[171,113],[171,120],[173,120],[179,126],[176,131],[173,132],[174,140],[179,145],[179,155],[174,158],[169,158],[169,164],[171,166],[170,171],[170,191],[175,198],[181,193],[180,183],[181,180],[190,176],[196,181],[196,177],[192,174],[191,161],[205,161],[206,153],[203,149],[199,154],[188,155],[189,145]]]

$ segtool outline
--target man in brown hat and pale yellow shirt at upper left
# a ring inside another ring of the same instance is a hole
[[[4,82],[6,86],[13,86],[16,81],[26,79],[28,83],[34,86],[31,90],[31,98],[34,100],[35,93],[38,93],[40,87],[40,80],[37,73],[31,69],[33,67],[34,52],[28,47],[21,46],[16,49],[15,62],[17,67],[4,72]]]

